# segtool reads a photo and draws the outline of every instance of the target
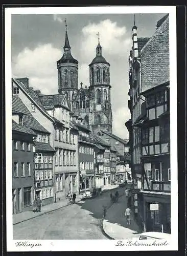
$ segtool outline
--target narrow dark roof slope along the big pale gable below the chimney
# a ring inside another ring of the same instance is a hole
[[[18,79],[12,78],[12,81],[14,83],[16,83],[16,85],[22,90],[24,91],[29,98],[35,102],[35,104],[39,107],[39,109],[43,112],[43,114],[45,116],[47,116],[49,119],[51,119],[53,122],[58,122],[60,124],[63,125],[63,123],[61,123],[58,119],[56,119],[55,117],[52,117],[48,112],[46,112],[41,100],[40,100],[40,95],[38,93],[36,93],[32,88],[30,87],[26,87],[22,82],[20,82]]]

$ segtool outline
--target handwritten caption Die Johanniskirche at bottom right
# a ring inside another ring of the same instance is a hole
[[[168,245],[167,241],[164,242],[158,242],[158,241],[153,241],[153,242],[138,242],[138,241],[131,241],[129,240],[128,242],[123,242],[122,240],[119,240],[115,246],[166,246]]]

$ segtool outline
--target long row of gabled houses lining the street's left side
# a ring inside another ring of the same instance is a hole
[[[100,129],[92,133],[71,111],[66,94],[43,95],[28,78],[12,78],[12,208],[30,210],[72,191],[130,179],[129,144]]]

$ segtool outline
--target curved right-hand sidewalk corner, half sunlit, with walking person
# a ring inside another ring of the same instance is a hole
[[[132,239],[142,232],[134,221],[133,214],[131,214],[131,225],[127,225],[126,217],[124,216],[126,205],[127,199],[124,195],[119,198],[118,203],[112,204],[103,220],[103,230],[111,239]]]

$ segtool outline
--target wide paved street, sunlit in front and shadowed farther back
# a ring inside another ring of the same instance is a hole
[[[108,239],[102,232],[103,206],[109,207],[110,193],[124,188],[104,192],[101,196],[86,199],[73,205],[49,212],[37,218],[13,226],[13,239]]]

